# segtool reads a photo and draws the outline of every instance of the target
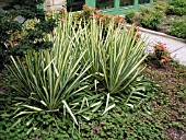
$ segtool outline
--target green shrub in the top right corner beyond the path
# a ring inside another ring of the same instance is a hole
[[[168,3],[166,13],[175,14],[175,15],[186,15],[186,1],[185,0],[172,0]]]

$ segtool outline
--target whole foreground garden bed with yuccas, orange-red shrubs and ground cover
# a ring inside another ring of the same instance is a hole
[[[53,18],[53,47],[0,69],[0,139],[185,139],[186,68],[164,44],[148,56],[135,26],[85,5]]]

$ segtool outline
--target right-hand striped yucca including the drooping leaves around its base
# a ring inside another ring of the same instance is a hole
[[[105,114],[115,107],[116,102],[128,105],[132,93],[127,89],[143,70],[141,62],[147,57],[144,38],[139,37],[135,26],[115,26],[114,21],[105,32],[105,26],[102,23],[97,24],[95,19],[91,20],[89,25],[80,25],[75,33],[78,37],[74,46],[88,50],[83,56],[82,66],[84,62],[91,62],[88,73],[92,75],[92,81],[89,81],[93,85],[91,91],[94,94],[88,91],[88,101],[91,103],[92,112],[101,110],[104,105]],[[138,97],[139,94],[132,96]],[[143,93],[140,96],[141,100],[147,97]]]

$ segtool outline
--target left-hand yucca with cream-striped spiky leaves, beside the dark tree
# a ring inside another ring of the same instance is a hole
[[[89,75],[85,72],[91,67],[90,62],[81,61],[86,52],[77,47],[78,34],[75,21],[72,23],[71,14],[66,22],[60,22],[55,28],[55,35],[48,35],[46,39],[53,42],[54,47],[46,50],[30,50],[21,60],[11,57],[10,71],[16,78],[14,89],[21,97],[18,102],[20,112],[16,114],[30,114],[35,112],[59,112],[67,109],[75,124],[75,117],[71,110],[71,103],[81,102],[82,90],[88,88],[85,83]],[[74,104],[74,103],[73,103]]]

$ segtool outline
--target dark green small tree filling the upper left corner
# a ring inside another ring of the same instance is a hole
[[[7,56],[22,55],[27,49],[51,47],[50,42],[44,40],[44,35],[50,33],[56,21],[46,19],[46,12],[37,9],[45,0],[12,0],[4,11],[0,11],[0,61],[5,62]],[[30,20],[32,27],[25,27]]]

